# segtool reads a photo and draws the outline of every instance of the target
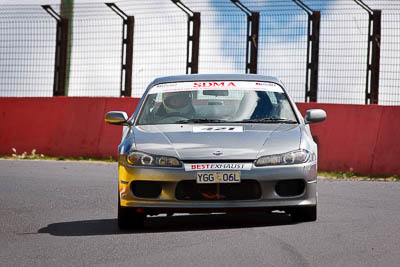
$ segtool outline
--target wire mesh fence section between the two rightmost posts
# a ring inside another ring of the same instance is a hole
[[[323,16],[318,99],[325,103],[364,104],[368,16],[361,11],[326,12]]]

